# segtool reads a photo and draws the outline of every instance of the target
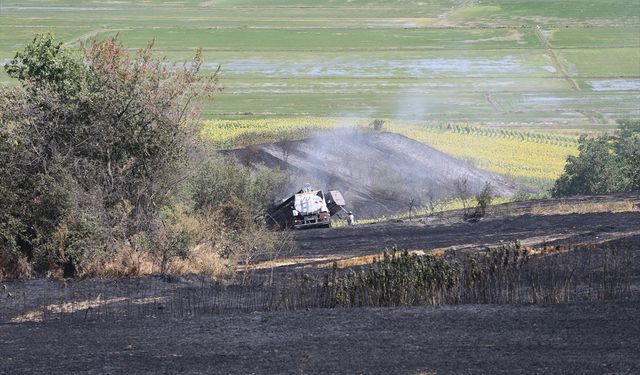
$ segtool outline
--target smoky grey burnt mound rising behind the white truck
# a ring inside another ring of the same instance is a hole
[[[339,190],[358,217],[406,212],[480,191],[486,182],[498,196],[515,186],[423,143],[387,132],[335,132],[301,141],[267,143],[228,152],[244,165],[280,168],[289,176],[282,197],[306,183]],[[456,188],[458,186],[458,188]]]

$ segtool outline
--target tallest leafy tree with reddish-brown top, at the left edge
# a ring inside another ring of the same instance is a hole
[[[2,257],[75,267],[86,246],[73,244],[102,227],[122,241],[157,229],[185,178],[194,101],[216,90],[201,64],[167,64],[153,43],[132,54],[117,37],[76,52],[43,34],[17,52],[5,70],[22,86],[0,92]]]

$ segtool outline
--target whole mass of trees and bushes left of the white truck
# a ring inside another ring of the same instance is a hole
[[[198,105],[220,90],[201,66],[199,52],[170,64],[117,37],[78,50],[41,34],[16,53],[5,70],[19,85],[0,89],[0,278],[165,272],[198,244],[220,259],[254,246],[241,233],[280,177],[199,137]]]

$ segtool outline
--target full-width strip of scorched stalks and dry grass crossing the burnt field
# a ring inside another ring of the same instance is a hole
[[[365,266],[279,273],[275,279],[273,275],[255,274],[242,285],[212,283],[191,276],[191,286],[165,290],[65,289],[58,295],[29,298],[28,302],[26,296],[2,295],[0,301],[5,307],[0,320],[94,320],[310,308],[626,300],[634,298],[637,264],[637,253],[623,246],[532,249],[514,242],[474,254],[448,252],[443,256],[390,249]]]

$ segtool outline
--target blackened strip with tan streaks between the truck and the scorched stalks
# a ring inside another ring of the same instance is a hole
[[[622,202],[626,212],[556,213],[560,207],[580,211],[580,205],[603,209]],[[495,206],[487,217],[469,223],[461,212],[442,217],[295,232],[290,260],[298,266],[325,263],[400,250],[477,250],[520,241],[526,246],[624,243],[640,248],[640,194],[584,197],[564,201],[509,203]],[[499,215],[496,212],[509,212]],[[548,212],[549,214],[532,214]]]

